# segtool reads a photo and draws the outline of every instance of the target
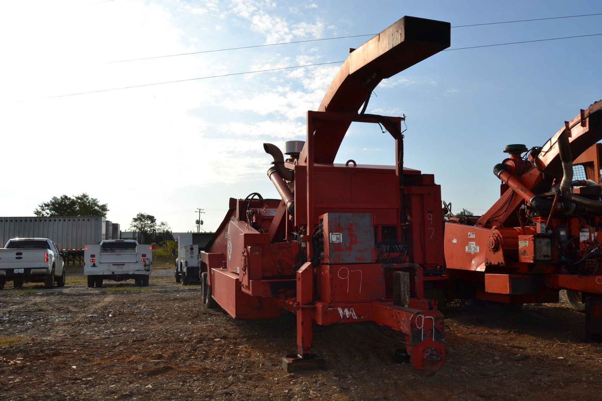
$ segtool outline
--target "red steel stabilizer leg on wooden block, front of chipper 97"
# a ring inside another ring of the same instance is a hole
[[[314,338],[314,265],[305,263],[297,271],[297,354],[285,355],[282,367],[287,372],[320,369],[324,360],[311,354]]]

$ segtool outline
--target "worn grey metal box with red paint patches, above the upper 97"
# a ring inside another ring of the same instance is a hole
[[[323,263],[373,263],[374,222],[371,213],[325,213]]]

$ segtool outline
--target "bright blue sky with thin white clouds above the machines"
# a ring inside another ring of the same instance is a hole
[[[45,98],[342,61],[369,37],[108,61],[376,34],[405,15],[454,26],[602,13],[594,1],[95,3],[0,4],[10,55],[0,66],[1,215],[31,215],[52,196],[85,191],[108,203],[122,228],[146,212],[191,230],[196,207],[206,209],[205,228],[216,228],[229,197],[278,197],[261,144],[304,139],[305,112],[320,104],[340,64]],[[598,33],[602,16],[453,28],[451,48]],[[497,199],[492,167],[504,145],[542,145],[602,98],[601,41],[441,52],[383,81],[368,111],[406,114],[405,164],[435,174],[456,210],[479,214]],[[393,164],[393,139],[353,125],[337,161],[351,158]]]

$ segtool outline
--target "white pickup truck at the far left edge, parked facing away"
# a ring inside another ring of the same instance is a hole
[[[51,289],[65,285],[67,274],[63,256],[48,238],[13,238],[0,249],[0,290],[13,280],[15,288],[23,283],[44,283]]]

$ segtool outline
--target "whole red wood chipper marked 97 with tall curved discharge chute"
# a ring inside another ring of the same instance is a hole
[[[281,199],[231,198],[200,254],[203,299],[234,319],[297,315],[297,350],[286,370],[321,363],[312,325],[374,322],[404,335],[398,356],[434,372],[445,357],[437,310],[442,275],[441,191],[432,174],[403,165],[404,117],[365,113],[382,79],[450,44],[450,24],[403,17],[357,49],[307,114],[306,141],[285,154],[264,144]],[[361,111],[358,110],[364,105]],[[381,124],[395,141],[396,165],[335,164],[352,122]]]

